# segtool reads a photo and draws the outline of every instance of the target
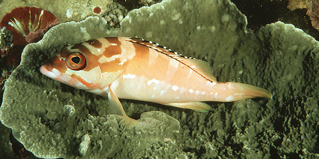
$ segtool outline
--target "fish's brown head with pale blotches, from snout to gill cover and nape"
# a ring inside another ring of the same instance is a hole
[[[125,38],[99,38],[62,48],[44,64],[42,74],[70,86],[92,90],[102,89],[121,74],[133,51],[125,51]]]

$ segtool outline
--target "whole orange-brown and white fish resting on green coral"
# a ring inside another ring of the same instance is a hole
[[[263,88],[236,82],[217,82],[210,66],[177,54],[152,41],[107,37],[70,45],[41,66],[49,78],[108,96],[115,114],[128,123],[119,98],[143,100],[195,111],[211,106],[201,101],[229,102],[266,97]]]

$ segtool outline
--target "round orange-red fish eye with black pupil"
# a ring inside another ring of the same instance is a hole
[[[86,58],[80,52],[71,52],[66,59],[66,66],[71,70],[83,70],[86,67]]]

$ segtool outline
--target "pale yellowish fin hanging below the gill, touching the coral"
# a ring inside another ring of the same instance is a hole
[[[116,91],[109,86],[110,93],[108,94],[109,97],[109,106],[110,110],[113,110],[114,114],[123,116],[124,120],[128,124],[135,125],[137,124],[137,120],[130,118],[128,115],[126,115],[123,106],[116,94]]]

